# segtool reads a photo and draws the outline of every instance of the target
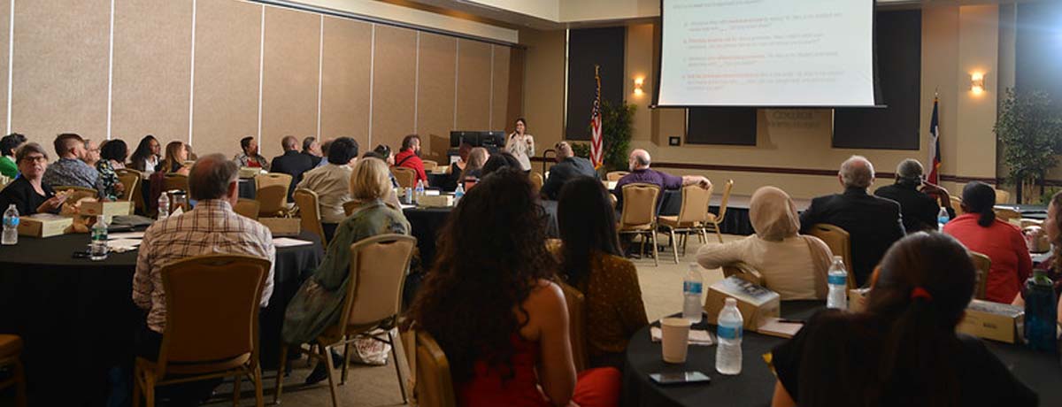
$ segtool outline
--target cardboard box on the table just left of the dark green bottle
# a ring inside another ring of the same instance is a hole
[[[1022,343],[1025,309],[1010,304],[973,300],[956,330],[983,339]]]

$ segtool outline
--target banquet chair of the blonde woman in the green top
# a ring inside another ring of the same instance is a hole
[[[350,244],[350,276],[340,320],[336,325],[325,328],[311,345],[316,345],[319,353],[298,345],[295,350],[305,353],[318,362],[324,362],[328,368],[328,387],[331,390],[332,407],[339,406],[336,393],[336,378],[332,373],[332,360],[329,350],[343,346],[343,373],[340,384],[346,383],[347,370],[350,364],[350,345],[358,338],[372,338],[391,345],[394,367],[398,375],[398,387],[401,390],[402,404],[409,401],[406,395],[406,383],[401,377],[401,367],[398,363],[398,344],[394,328],[401,310],[402,285],[409,272],[409,264],[413,258],[413,248],[416,239],[406,235],[378,235],[359,240]],[[374,334],[382,329],[384,333]],[[386,335],[380,338],[378,335]],[[280,346],[280,368],[284,372],[288,355],[288,344]],[[284,375],[276,377],[276,392],[273,403],[279,403],[284,391]]]

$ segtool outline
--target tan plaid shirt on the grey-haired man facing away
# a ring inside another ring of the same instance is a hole
[[[205,254],[245,254],[269,259],[261,306],[269,305],[276,262],[273,234],[261,223],[237,215],[227,201],[200,201],[194,209],[156,222],[143,233],[133,275],[133,302],[149,310],[148,327],[152,330],[166,329],[162,267]]]

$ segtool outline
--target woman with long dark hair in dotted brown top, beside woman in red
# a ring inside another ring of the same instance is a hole
[[[554,167],[555,168],[555,167]],[[622,257],[612,198],[597,177],[576,175],[561,189],[556,220],[560,274],[586,298],[592,367],[623,367],[631,336],[649,324],[638,270]]]

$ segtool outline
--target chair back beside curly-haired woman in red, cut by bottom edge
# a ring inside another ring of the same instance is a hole
[[[453,379],[450,377],[450,363],[446,360],[446,354],[428,333],[419,330],[413,335],[416,349],[413,374],[416,376],[417,405],[456,407]]]

